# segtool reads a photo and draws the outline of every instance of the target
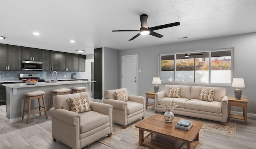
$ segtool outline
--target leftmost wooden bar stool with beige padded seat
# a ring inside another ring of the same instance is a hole
[[[41,112],[44,111],[45,113],[45,116],[46,116],[46,119],[48,119],[48,116],[47,116],[47,111],[46,111],[46,105],[45,105],[45,100],[44,100],[44,94],[45,92],[44,91],[32,91],[32,92],[28,92],[28,93],[25,93],[25,100],[24,100],[24,106],[23,106],[23,114],[22,114],[22,120],[24,119],[24,115],[25,115],[25,112],[28,113],[28,120],[27,120],[27,123],[29,123],[29,117],[31,114],[34,114],[34,113],[40,113],[41,115]],[[28,109],[26,109],[26,102],[27,102],[27,98],[28,98]],[[43,100],[43,104],[44,104],[44,107],[42,107],[40,105],[40,98],[42,98]],[[31,109],[31,100],[32,99],[38,99],[38,107],[35,107],[35,108],[32,108]],[[41,107],[44,108],[43,110],[41,110]],[[33,110],[33,109],[37,109],[39,108],[39,111],[35,111],[35,112],[31,112],[30,110]]]

